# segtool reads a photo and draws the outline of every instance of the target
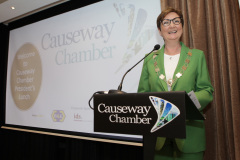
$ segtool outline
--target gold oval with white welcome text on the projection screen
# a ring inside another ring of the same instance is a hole
[[[11,91],[16,106],[29,109],[38,97],[42,82],[42,63],[33,44],[24,44],[16,53],[11,70]]]

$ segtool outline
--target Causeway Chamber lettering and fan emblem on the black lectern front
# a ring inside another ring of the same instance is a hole
[[[157,120],[151,129],[151,133],[159,130],[168,123],[171,123],[176,117],[180,115],[180,110],[171,102],[155,97],[149,96],[156,114]],[[109,114],[108,120],[110,123],[125,123],[125,124],[144,124],[150,125],[152,117],[148,116],[152,106],[108,106],[100,103],[97,107],[99,113]],[[132,116],[134,115],[134,116]]]

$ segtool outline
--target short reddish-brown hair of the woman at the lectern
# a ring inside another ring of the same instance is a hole
[[[171,13],[171,12],[175,12],[176,14],[179,15],[179,17],[181,18],[181,23],[182,23],[182,26],[184,25],[184,20],[183,20],[183,14],[182,14],[182,11],[181,10],[178,10],[178,9],[174,9],[172,7],[169,7],[165,10],[163,10],[161,12],[161,14],[159,14],[158,18],[157,18],[157,27],[159,30],[161,30],[161,22],[163,21],[163,19],[166,17],[166,15],[168,13]]]

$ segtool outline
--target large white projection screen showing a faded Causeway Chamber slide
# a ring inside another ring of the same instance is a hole
[[[124,73],[162,46],[160,1],[106,0],[10,31],[6,125],[94,133],[88,101],[117,89]],[[142,63],[123,91],[137,92]]]

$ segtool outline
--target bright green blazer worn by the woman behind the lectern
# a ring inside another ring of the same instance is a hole
[[[182,42],[178,65],[173,75],[172,91],[194,91],[201,104],[201,112],[213,99],[213,87],[208,73],[203,51],[189,49]],[[164,69],[164,47],[151,53],[143,63],[138,92],[168,91]],[[154,56],[155,55],[155,56]],[[155,57],[155,60],[153,59]],[[155,71],[156,66],[158,73]],[[181,73],[181,74],[179,74]],[[178,76],[177,76],[178,75]],[[180,76],[179,76],[180,75]],[[160,78],[161,77],[161,78]],[[158,137],[156,150],[160,150],[165,142],[164,137]],[[205,127],[202,120],[186,120],[186,139],[175,139],[180,151],[194,153],[205,150]]]

